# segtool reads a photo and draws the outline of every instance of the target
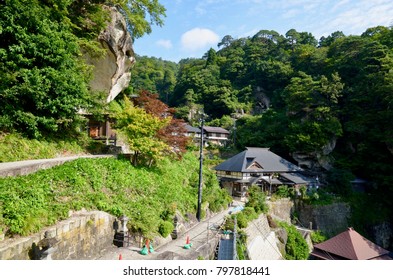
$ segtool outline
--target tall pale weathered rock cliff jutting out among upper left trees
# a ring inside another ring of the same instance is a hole
[[[110,22],[99,35],[98,41],[106,50],[106,55],[92,57],[85,54],[85,59],[94,67],[91,89],[104,92],[107,96],[106,102],[109,103],[128,86],[135,54],[123,15],[114,7],[104,8],[110,13]]]

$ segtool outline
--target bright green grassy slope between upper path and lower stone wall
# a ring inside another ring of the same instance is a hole
[[[0,233],[28,235],[68,218],[69,211],[85,208],[127,215],[131,229],[148,237],[167,235],[165,221],[172,224],[177,212],[196,212],[198,168],[197,157],[187,153],[181,161],[164,160],[149,169],[133,167],[125,159],[78,159],[26,176],[1,178]],[[229,201],[205,168],[203,209],[219,211]]]

